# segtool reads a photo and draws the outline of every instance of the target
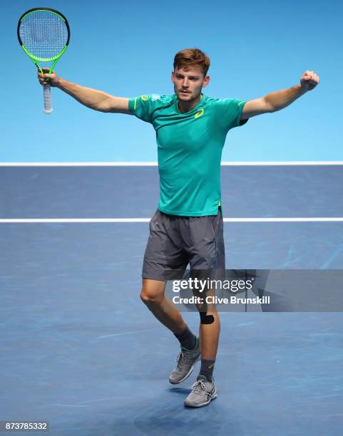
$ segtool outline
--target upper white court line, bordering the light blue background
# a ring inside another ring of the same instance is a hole
[[[157,167],[158,162],[0,162],[0,167]],[[342,160],[294,162],[221,162],[222,167],[343,165]]]

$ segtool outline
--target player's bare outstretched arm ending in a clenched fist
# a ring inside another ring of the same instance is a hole
[[[319,76],[314,71],[305,71],[300,78],[300,85],[292,86],[291,88],[282,89],[270,93],[261,98],[255,100],[249,100],[245,103],[241,120],[261,115],[262,113],[275,112],[286,108],[286,106],[293,103],[301,95],[307,93],[308,90],[312,90],[319,83]]]

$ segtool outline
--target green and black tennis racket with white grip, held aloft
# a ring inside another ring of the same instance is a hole
[[[52,61],[49,74],[68,47],[70,30],[66,17],[50,8],[34,8],[19,19],[18,39],[21,48],[34,61],[41,74],[40,62]],[[48,81],[48,79],[47,79]],[[44,113],[52,112],[50,85],[43,86]]]

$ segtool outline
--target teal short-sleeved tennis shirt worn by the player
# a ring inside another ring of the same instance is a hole
[[[247,122],[240,121],[245,103],[203,95],[195,108],[180,113],[175,94],[130,98],[130,112],[151,123],[156,132],[161,212],[187,217],[217,214],[222,147],[227,132]]]

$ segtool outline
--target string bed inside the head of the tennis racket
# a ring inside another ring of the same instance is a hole
[[[68,28],[58,14],[34,11],[21,21],[19,34],[24,47],[35,58],[56,58],[68,41]]]

